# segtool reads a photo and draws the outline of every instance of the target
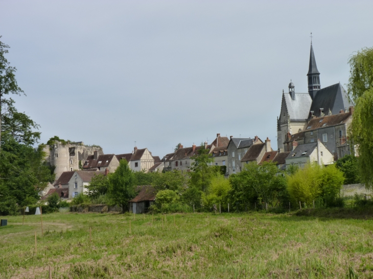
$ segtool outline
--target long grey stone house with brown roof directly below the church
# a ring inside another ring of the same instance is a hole
[[[347,131],[353,113],[354,107],[349,107],[347,113],[341,110],[338,114],[312,117],[304,131],[294,135],[288,133],[288,139],[284,142],[284,150],[291,151],[294,140],[298,145],[320,140],[336,159],[351,154],[351,146],[347,142]]]

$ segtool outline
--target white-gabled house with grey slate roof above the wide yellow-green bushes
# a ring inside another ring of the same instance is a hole
[[[307,163],[316,162],[318,165],[331,164],[334,161],[334,156],[320,140],[300,145],[296,141],[293,141],[293,150],[286,157],[285,161],[286,168],[291,165],[303,168]]]

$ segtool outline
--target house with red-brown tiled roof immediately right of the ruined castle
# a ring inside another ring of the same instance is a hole
[[[94,155],[87,157],[87,160],[83,164],[84,170],[96,170],[114,172],[119,166],[119,161],[114,154],[98,155],[95,151]]]

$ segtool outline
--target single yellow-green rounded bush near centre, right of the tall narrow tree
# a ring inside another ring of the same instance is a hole
[[[211,180],[206,193],[203,193],[202,199],[203,204],[207,207],[212,207],[213,205],[219,205],[223,208],[227,207],[228,204],[228,194],[231,191],[229,180],[224,178],[224,175],[218,174]]]

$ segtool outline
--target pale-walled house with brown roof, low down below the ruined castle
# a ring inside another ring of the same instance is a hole
[[[87,192],[85,186],[89,185],[92,178],[95,175],[107,175],[109,169],[105,171],[94,171],[94,170],[77,170],[72,175],[71,179],[68,181],[68,197],[73,198],[79,195],[80,193]]]

